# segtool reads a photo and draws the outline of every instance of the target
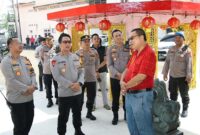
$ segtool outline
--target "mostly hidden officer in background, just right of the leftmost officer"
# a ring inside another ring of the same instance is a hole
[[[40,61],[39,52],[42,49],[42,47],[45,45],[46,45],[45,38],[40,37],[39,38],[39,46],[36,47],[36,49],[35,49],[35,58],[38,61],[38,69],[39,69],[39,91],[43,91],[43,67],[42,67],[42,63]]]

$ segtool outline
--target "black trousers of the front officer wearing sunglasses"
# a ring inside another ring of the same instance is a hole
[[[57,132],[59,135],[65,135],[66,124],[69,119],[69,112],[72,109],[73,125],[75,129],[79,129],[82,126],[81,120],[81,100],[82,96],[71,96],[71,97],[58,97],[58,128]]]

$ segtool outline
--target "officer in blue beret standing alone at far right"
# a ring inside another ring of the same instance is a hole
[[[169,72],[169,92],[171,100],[177,101],[178,89],[182,98],[183,111],[181,117],[187,117],[189,104],[189,86],[192,79],[192,56],[190,48],[184,50],[184,36],[175,33],[176,45],[169,49],[163,67],[163,78],[168,80]]]

